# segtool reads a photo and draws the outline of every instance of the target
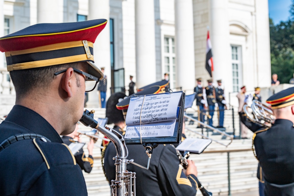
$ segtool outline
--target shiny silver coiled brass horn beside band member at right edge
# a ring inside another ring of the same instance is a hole
[[[273,110],[257,100],[253,101],[251,107],[245,104],[243,106],[243,110],[247,115],[247,118],[253,123],[262,125],[264,127],[271,127],[275,122],[275,115],[273,114]]]

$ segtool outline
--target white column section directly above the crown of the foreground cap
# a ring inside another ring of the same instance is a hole
[[[63,1],[37,1],[37,23],[61,23],[63,22],[63,14]]]

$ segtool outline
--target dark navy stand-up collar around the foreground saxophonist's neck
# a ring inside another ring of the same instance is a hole
[[[5,119],[20,125],[33,133],[43,135],[51,142],[63,143],[56,130],[35,111],[21,105],[14,105]]]

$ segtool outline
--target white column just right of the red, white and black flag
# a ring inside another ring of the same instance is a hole
[[[230,56],[230,30],[228,20],[228,0],[210,1],[210,38],[213,53],[213,83],[222,79],[226,91],[232,88],[232,65]],[[204,65],[203,65],[204,66]]]

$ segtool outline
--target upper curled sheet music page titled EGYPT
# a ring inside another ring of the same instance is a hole
[[[141,123],[177,119],[181,95],[182,92],[152,94],[146,95],[145,100],[144,96],[131,97],[126,115],[126,125],[140,124],[140,115]]]

